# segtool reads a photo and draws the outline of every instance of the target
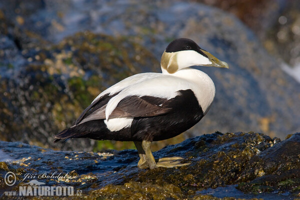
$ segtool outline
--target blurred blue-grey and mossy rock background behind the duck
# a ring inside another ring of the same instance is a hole
[[[300,3],[293,0],[1,0],[0,139],[99,150],[132,142],[53,144],[102,90],[135,73],[160,71],[172,39],[188,37],[229,70],[201,67],[214,103],[193,128],[156,142],[257,131],[299,131]],[[298,71],[298,72],[297,72]]]

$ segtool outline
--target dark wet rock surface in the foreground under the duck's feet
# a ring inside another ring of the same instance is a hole
[[[152,170],[139,169],[137,151],[131,149],[54,151],[5,141],[0,149],[2,199],[4,191],[18,191],[32,179],[74,186],[87,199],[293,199],[300,192],[300,133],[283,141],[255,132],[205,134],[153,153],[156,158],[182,156],[190,165]],[[8,171],[16,174],[13,186],[4,183]],[[61,174],[38,178],[44,173]]]

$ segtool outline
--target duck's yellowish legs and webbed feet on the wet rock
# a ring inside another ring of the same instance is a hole
[[[134,142],[138,154],[139,154],[139,161],[137,163],[137,166],[139,168],[154,168],[154,167],[176,167],[176,166],[184,166],[188,165],[190,163],[180,163],[180,160],[182,160],[182,157],[162,157],[155,162],[155,159],[152,155],[150,146],[150,141],[143,140],[142,142]]]

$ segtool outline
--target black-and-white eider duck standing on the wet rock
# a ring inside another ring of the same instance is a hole
[[[101,92],[74,125],[55,135],[61,139],[133,141],[139,168],[174,167],[182,157],[156,162],[151,141],[174,137],[195,125],[208,111],[215,87],[210,77],[190,66],[228,68],[228,64],[200,48],[193,40],[171,41],[161,56],[162,73],[139,73]]]

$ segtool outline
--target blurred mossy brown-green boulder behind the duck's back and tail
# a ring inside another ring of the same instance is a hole
[[[72,125],[108,86],[134,73],[159,68],[158,60],[133,40],[86,31],[43,48],[25,45],[24,56],[29,61],[16,76],[0,79],[4,94],[1,139],[52,148],[98,149],[100,144],[88,139],[53,145],[52,138]],[[110,141],[100,143],[111,147]],[[132,146],[125,143],[119,149]]]

